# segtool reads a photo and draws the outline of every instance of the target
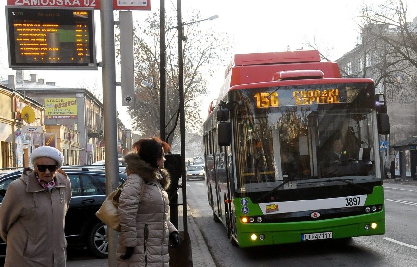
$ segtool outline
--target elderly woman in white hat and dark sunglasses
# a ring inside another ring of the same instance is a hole
[[[0,206],[0,236],[7,244],[4,266],[65,267],[65,214],[71,183],[60,170],[64,156],[42,146],[30,156],[34,169],[7,188]]]

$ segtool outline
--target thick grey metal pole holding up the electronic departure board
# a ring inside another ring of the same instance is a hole
[[[116,61],[113,1],[101,0],[101,50],[103,67],[104,155],[106,159],[106,194],[115,190],[118,181]],[[109,267],[116,266],[117,232],[107,228]]]

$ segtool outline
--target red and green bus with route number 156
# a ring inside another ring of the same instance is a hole
[[[235,55],[203,125],[209,204],[240,247],[385,233],[385,96],[318,51]],[[334,158],[336,142],[342,151]]]

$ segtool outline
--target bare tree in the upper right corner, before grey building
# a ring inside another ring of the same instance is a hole
[[[407,1],[387,0],[361,8],[362,43],[372,44],[376,84],[381,83],[392,100],[414,101],[417,73],[417,21],[407,20]]]

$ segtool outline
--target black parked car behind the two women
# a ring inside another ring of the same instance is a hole
[[[70,248],[87,248],[94,256],[107,258],[107,226],[95,212],[106,199],[106,173],[93,166],[62,166],[71,180],[72,197],[65,217],[65,236]],[[0,204],[8,185],[19,178],[23,168],[0,172]],[[119,184],[127,178],[119,172]],[[0,238],[0,257],[6,255],[6,244]]]

